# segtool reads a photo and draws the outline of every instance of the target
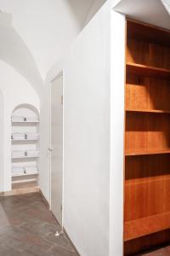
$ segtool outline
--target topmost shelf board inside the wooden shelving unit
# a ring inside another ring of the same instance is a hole
[[[127,72],[144,76],[153,76],[159,79],[170,79],[170,70],[160,67],[151,67],[127,62]]]

